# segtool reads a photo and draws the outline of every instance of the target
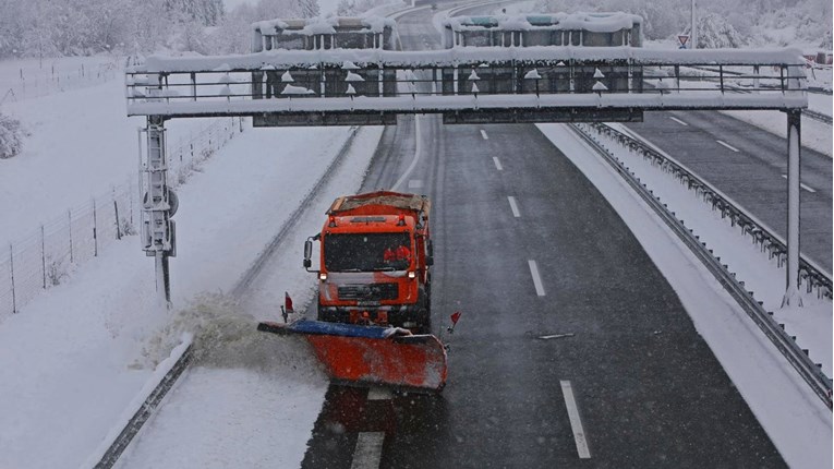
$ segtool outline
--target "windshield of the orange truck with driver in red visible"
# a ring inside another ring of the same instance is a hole
[[[325,268],[330,272],[404,270],[411,265],[411,239],[406,232],[327,234]]]

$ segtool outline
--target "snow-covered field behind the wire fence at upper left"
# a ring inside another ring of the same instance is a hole
[[[3,63],[3,62],[0,62]],[[14,74],[14,67],[0,72]],[[137,178],[137,129],[142,118],[124,112],[121,72],[101,84],[5,103],[2,112],[19,119],[29,133],[23,153],[0,160],[0,242],[9,245],[39,224],[63,216],[110,190]],[[170,121],[168,146],[189,140],[211,120]],[[14,220],[9,223],[8,220]]]

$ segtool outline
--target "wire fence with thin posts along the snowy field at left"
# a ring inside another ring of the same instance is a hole
[[[243,131],[241,118],[218,119],[168,148],[169,184],[176,188]],[[83,263],[125,237],[141,219],[138,177],[130,177],[89,202],[68,209],[17,242],[0,246],[0,321],[41,292],[61,285]],[[138,255],[138,249],[137,249]]]

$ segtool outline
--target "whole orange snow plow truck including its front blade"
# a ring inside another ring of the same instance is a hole
[[[336,381],[439,392],[446,349],[431,335],[430,212],[418,194],[336,199],[322,231],[304,243],[304,268],[318,277],[317,321],[258,329],[304,336]]]

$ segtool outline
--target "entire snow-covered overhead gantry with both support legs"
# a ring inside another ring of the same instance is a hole
[[[382,44],[373,39],[372,44]],[[325,43],[316,43],[325,44]],[[785,303],[799,302],[800,116],[805,62],[794,49],[645,50],[620,47],[457,47],[261,50],[148,58],[126,71],[130,116],[147,117],[143,236],[168,299],[176,250],[165,121],[251,117],[256,127],[396,124],[436,113],[445,123],[641,121],[656,110],[779,110],[787,115]]]

